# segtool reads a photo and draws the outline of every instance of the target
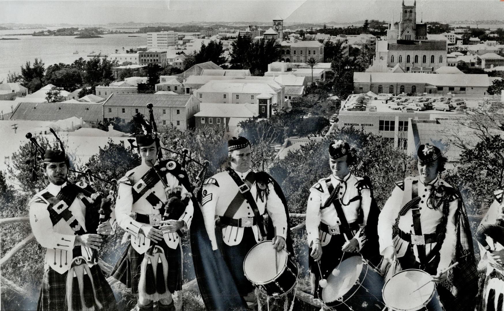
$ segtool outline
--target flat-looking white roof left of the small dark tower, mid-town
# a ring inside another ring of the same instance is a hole
[[[200,112],[195,117],[252,118],[258,116],[258,108],[253,104],[201,103]]]

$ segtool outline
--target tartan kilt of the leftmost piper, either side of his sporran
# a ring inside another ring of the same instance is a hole
[[[114,293],[100,267],[98,265],[92,266],[90,271],[98,301],[103,305],[101,310],[117,310]],[[63,311],[69,309],[66,299],[67,274],[68,271],[64,274],[59,274],[51,267],[44,272],[37,310]],[[92,288],[85,288],[84,290],[86,291],[84,295],[93,296]]]

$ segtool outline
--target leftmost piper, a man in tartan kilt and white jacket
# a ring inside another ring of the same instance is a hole
[[[43,171],[49,184],[29,202],[33,234],[46,248],[37,310],[115,310],[112,289],[92,261],[113,220],[97,225],[94,201],[83,194],[88,186],[70,183],[69,169],[65,151],[47,150]]]

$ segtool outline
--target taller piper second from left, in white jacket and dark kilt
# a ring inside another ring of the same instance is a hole
[[[112,276],[138,294],[134,310],[174,310],[172,294],[182,288],[181,230],[193,218],[187,175],[173,160],[159,161],[152,134],[136,135],[142,164],[119,180],[118,225],[131,242]],[[171,205],[175,204],[175,208]],[[168,213],[173,216],[162,220]]]

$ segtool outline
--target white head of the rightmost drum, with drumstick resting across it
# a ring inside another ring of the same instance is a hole
[[[435,284],[429,282],[415,290],[430,280],[430,275],[422,270],[408,269],[398,272],[385,283],[383,300],[388,307],[396,310],[418,310],[432,298]]]

